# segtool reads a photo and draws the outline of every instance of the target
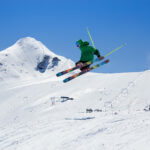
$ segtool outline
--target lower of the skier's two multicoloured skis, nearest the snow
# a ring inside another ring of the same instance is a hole
[[[105,61],[103,61],[103,62],[101,62],[101,63],[99,63],[99,64],[97,64],[97,65],[92,66],[91,68],[89,68],[89,70],[81,71],[81,72],[79,72],[79,73],[76,73],[76,74],[73,75],[73,76],[70,76],[70,77],[64,79],[63,82],[66,83],[66,82],[68,82],[68,81],[70,81],[70,80],[72,80],[72,79],[74,79],[74,78],[77,78],[77,77],[80,76],[80,75],[83,75],[83,74],[85,74],[85,73],[87,73],[87,72],[89,72],[89,71],[91,71],[91,70],[93,70],[93,69],[96,69],[96,68],[98,68],[98,67],[100,67],[100,66],[102,66],[102,65],[104,65],[104,64],[107,64],[108,62],[109,62],[109,59],[106,59]]]

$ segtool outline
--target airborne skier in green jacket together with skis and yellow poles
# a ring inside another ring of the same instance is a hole
[[[91,36],[90,36],[90,39],[91,39]],[[92,41],[92,39],[91,39],[91,41]],[[104,61],[101,61],[101,60],[103,60],[106,56],[112,54],[113,52],[115,52],[118,49],[125,46],[125,44],[122,44],[121,46],[119,46],[116,49],[109,52],[107,55],[101,56],[99,50],[95,48],[93,41],[92,41],[92,44],[93,44],[93,47],[90,46],[89,42],[87,42],[87,41],[82,41],[81,39],[78,40],[76,42],[76,46],[78,48],[80,48],[80,50],[81,50],[80,60],[78,62],[76,62],[76,66],[69,68],[67,70],[58,72],[56,74],[56,76],[60,77],[62,75],[65,75],[69,72],[72,72],[72,71],[80,68],[80,70],[81,70],[80,72],[78,72],[72,76],[69,76],[63,80],[64,83],[69,82],[70,80],[72,80],[74,78],[77,78],[77,77],[79,77],[79,76],[81,76],[81,75],[83,75],[83,74],[85,74],[91,70],[94,70],[98,67],[103,66],[104,64],[107,64],[109,62],[109,59],[106,59]],[[94,59],[94,55],[96,55],[98,58]],[[101,61],[101,62],[99,62],[99,61]],[[92,67],[90,67],[90,65],[95,63],[95,62],[99,62],[99,63],[96,65],[92,65]]]

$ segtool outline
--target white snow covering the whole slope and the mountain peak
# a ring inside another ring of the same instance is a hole
[[[150,70],[63,83],[69,74],[56,73],[74,63],[31,37],[0,52],[0,63],[0,150],[149,150]]]

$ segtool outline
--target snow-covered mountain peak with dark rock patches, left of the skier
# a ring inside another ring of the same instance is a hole
[[[26,37],[0,52],[0,80],[49,77],[64,66],[72,65],[71,60],[54,54],[34,38]]]

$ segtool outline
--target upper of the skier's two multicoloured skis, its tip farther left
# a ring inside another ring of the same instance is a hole
[[[102,58],[103,58],[103,57],[102,57]],[[104,59],[104,58],[103,58],[103,59]],[[102,59],[101,59],[101,60],[102,60]],[[79,69],[79,68],[81,68],[81,67],[90,65],[90,64],[92,64],[92,63],[95,63],[95,62],[98,62],[98,61],[101,61],[101,60],[100,60],[99,58],[96,58],[96,59],[94,59],[93,61],[88,61],[88,62],[84,63],[82,66],[75,66],[75,67],[73,67],[73,68],[70,68],[70,69],[61,71],[61,72],[57,73],[56,76],[57,76],[57,77],[60,77],[60,76],[62,76],[62,75],[64,75],[64,74],[66,74],[66,73],[69,73],[69,72],[71,72],[71,71],[74,71],[74,70],[76,70],[76,69]]]

